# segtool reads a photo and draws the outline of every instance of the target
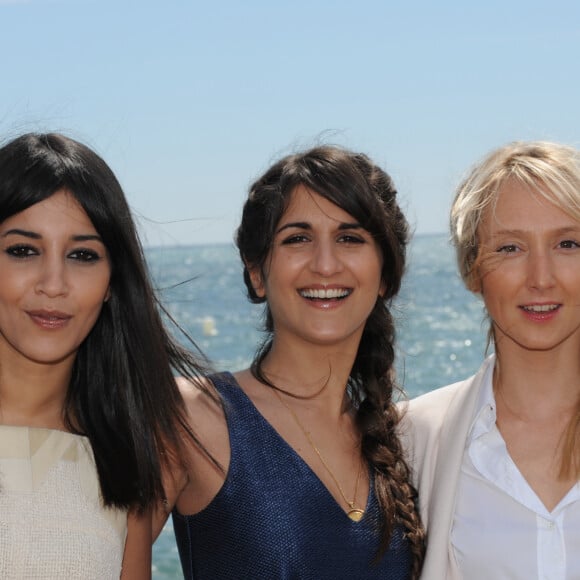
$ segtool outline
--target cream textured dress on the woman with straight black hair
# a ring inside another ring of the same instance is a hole
[[[86,437],[0,425],[0,578],[118,580],[126,533]]]

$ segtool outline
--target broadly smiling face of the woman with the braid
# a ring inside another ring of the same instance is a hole
[[[291,195],[264,272],[250,277],[272,314],[275,340],[355,341],[384,287],[381,251],[344,210],[304,186]]]

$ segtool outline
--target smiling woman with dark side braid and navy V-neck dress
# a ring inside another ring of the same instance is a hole
[[[192,446],[167,486],[186,578],[418,578],[389,311],[407,240],[364,155],[315,148],[251,186],[237,245],[266,339],[249,369],[211,377],[221,406],[184,388],[219,463]]]

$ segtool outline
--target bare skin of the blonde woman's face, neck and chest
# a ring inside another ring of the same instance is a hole
[[[496,423],[552,510],[576,483],[573,474],[561,476],[560,462],[580,392],[580,223],[508,181],[478,234],[481,293],[498,354]]]

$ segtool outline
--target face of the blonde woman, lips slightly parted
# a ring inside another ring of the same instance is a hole
[[[578,357],[580,223],[508,181],[478,235],[480,290],[496,349],[564,349]]]

